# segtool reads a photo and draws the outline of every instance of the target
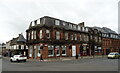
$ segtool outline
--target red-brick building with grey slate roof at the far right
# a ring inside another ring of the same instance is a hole
[[[115,31],[106,27],[93,28],[102,32],[102,48],[104,55],[108,55],[110,52],[120,53],[120,37]]]

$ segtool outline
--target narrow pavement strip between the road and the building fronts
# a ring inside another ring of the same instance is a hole
[[[82,56],[82,57],[78,57],[79,59],[93,59],[93,58],[106,58],[107,56]],[[3,57],[4,59],[10,59],[10,57]],[[58,58],[48,58],[48,59],[44,59],[43,62],[54,62],[54,61],[67,61],[67,60],[77,60],[75,57],[58,57]],[[27,59],[27,61],[29,62],[36,62],[36,61],[40,61],[40,59]]]

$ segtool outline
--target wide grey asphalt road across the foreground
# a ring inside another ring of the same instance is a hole
[[[57,62],[2,61],[3,71],[118,71],[118,59],[96,58]]]

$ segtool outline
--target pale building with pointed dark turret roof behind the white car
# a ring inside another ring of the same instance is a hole
[[[18,37],[6,42],[6,49],[6,53],[8,53],[8,56],[11,56],[13,54],[23,54],[25,56],[28,55],[26,39],[22,34],[19,34]]]

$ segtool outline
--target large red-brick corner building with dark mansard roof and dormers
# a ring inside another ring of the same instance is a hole
[[[94,46],[91,47],[93,42],[89,41],[90,37],[98,40],[96,43],[102,38],[101,35],[90,36],[93,34],[90,31],[84,27],[84,22],[77,25],[48,16],[34,20],[26,30],[28,56],[37,59],[40,55],[43,58],[93,55]]]

